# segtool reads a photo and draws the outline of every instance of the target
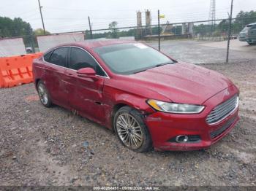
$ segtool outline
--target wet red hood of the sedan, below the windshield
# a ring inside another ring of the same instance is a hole
[[[127,76],[129,82],[154,90],[170,101],[203,104],[233,83],[216,71],[189,63],[174,63]]]

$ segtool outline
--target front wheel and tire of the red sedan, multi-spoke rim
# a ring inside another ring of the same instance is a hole
[[[152,148],[151,135],[143,116],[129,106],[121,107],[114,117],[114,128],[124,146],[135,152],[147,152]]]

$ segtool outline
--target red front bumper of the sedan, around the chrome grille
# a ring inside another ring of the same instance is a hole
[[[227,95],[228,93],[228,95]],[[146,117],[146,125],[151,133],[154,148],[157,150],[197,150],[206,149],[230,132],[239,120],[238,108],[224,120],[208,125],[207,115],[223,101],[238,93],[236,86],[228,87],[209,98],[200,114],[169,114],[154,112]],[[200,141],[178,143],[176,136],[199,136]]]

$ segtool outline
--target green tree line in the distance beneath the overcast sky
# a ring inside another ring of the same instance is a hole
[[[232,22],[232,32],[233,34],[238,34],[244,26],[249,23],[256,23],[256,11],[250,12],[239,12],[236,15],[236,19]],[[222,20],[218,24],[214,25],[214,29],[208,23],[201,23],[199,25],[195,24],[194,26],[194,34],[201,35],[220,35],[226,33],[229,27],[228,18]],[[118,30],[118,23],[113,21],[108,25],[109,30],[105,32],[94,32],[93,38],[118,38],[119,36],[135,36],[136,38],[140,38],[141,36],[146,36],[148,34],[157,35],[158,27],[151,27],[150,33],[148,33],[147,28],[142,28],[140,36],[138,36],[137,28],[127,29],[127,30]],[[160,28],[162,31],[162,27]],[[175,26],[170,28],[167,31],[169,34],[181,34],[181,26]],[[15,36],[37,36],[43,35],[44,31],[42,28],[37,28],[33,30],[31,25],[26,21],[23,21],[20,17],[15,17],[13,20],[10,17],[1,17],[0,16],[0,38],[4,37],[15,37]],[[50,32],[46,31],[45,34],[50,34]],[[89,31],[86,31],[86,39],[90,39],[91,35]]]

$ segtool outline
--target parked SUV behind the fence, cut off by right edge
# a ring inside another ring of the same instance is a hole
[[[256,23],[246,25],[239,34],[239,40],[248,44],[256,44]]]

